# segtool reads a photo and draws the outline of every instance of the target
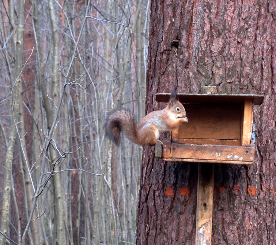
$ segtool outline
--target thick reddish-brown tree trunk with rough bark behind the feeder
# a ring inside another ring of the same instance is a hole
[[[276,243],[275,9],[273,1],[151,2],[147,113],[164,108],[154,95],[172,87],[265,96],[254,108],[254,164],[215,164],[213,245]],[[198,166],[157,160],[153,150],[143,152],[137,245],[195,244]]]

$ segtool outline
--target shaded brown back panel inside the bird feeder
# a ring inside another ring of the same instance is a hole
[[[240,140],[243,104],[185,105],[188,123],[179,127],[179,139]]]

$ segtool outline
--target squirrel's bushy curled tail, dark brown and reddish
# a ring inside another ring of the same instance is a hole
[[[136,125],[136,118],[130,110],[124,108],[113,110],[108,113],[104,124],[105,135],[114,141],[116,145],[119,145],[121,131],[123,130],[127,138],[137,144]]]

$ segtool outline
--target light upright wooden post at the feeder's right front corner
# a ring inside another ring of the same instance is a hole
[[[252,134],[252,100],[245,100],[244,102],[244,117],[243,117],[243,128],[242,128],[242,146],[249,146]]]

